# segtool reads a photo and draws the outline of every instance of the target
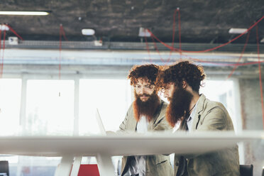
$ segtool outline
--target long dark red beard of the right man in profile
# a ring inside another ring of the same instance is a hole
[[[166,119],[170,126],[174,127],[184,119],[189,111],[189,104],[192,101],[192,94],[185,89],[175,89],[166,110]]]

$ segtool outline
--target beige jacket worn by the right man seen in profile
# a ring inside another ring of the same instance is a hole
[[[186,129],[184,121],[180,130]],[[233,131],[233,123],[223,104],[209,101],[204,94],[199,97],[192,123],[192,131]],[[195,145],[195,144],[194,144]],[[175,155],[175,175],[179,166],[178,155]],[[226,148],[214,153],[187,158],[188,174],[202,176],[236,176],[239,173],[238,146]]]

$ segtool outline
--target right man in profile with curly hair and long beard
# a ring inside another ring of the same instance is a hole
[[[159,87],[170,101],[166,119],[181,131],[233,131],[233,123],[223,104],[199,94],[205,74],[202,66],[189,61],[178,62],[160,72]],[[158,86],[158,85],[157,85]],[[175,155],[175,175],[239,174],[238,146],[203,155]]]

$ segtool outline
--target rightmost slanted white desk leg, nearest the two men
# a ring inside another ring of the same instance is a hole
[[[97,154],[97,163],[100,176],[114,176],[114,165],[111,160],[111,155]]]

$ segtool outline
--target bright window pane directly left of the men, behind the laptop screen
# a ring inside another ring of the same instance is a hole
[[[95,119],[99,109],[106,131],[116,131],[131,105],[131,86],[126,79],[80,79],[79,134],[100,133]]]

